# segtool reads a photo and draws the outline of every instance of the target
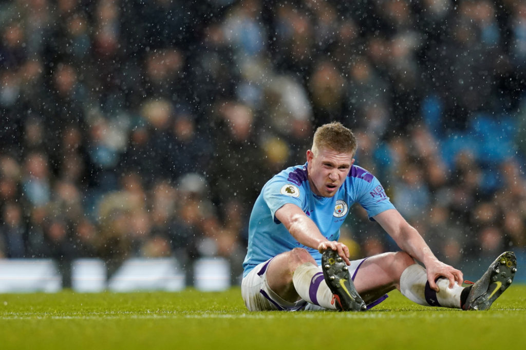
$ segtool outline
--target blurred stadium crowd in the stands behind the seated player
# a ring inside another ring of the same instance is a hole
[[[523,1],[0,0],[0,36],[0,256],[239,273],[330,120],[445,262],[526,248]],[[342,237],[393,249],[360,208]]]

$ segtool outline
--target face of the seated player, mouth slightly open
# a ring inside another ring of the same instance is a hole
[[[332,197],[347,178],[355,160],[351,153],[319,149],[317,155],[307,151],[310,189],[322,197]]]

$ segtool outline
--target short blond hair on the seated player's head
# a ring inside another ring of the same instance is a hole
[[[342,123],[333,121],[316,129],[311,150],[315,155],[323,148],[354,156],[357,147],[356,137],[352,131]]]

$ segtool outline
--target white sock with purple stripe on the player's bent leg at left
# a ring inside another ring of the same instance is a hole
[[[303,300],[336,310],[336,305],[331,304],[332,292],[323,278],[323,272],[315,264],[307,262],[298,266],[292,275],[292,283]]]

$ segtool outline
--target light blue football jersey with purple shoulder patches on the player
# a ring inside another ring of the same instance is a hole
[[[276,211],[287,203],[300,207],[329,241],[339,239],[341,224],[352,204],[359,203],[369,218],[395,208],[376,177],[358,166],[351,167],[347,179],[330,198],[310,190],[307,163],[287,168],[265,184],[252,208],[243,276],[259,263],[294,248],[306,249],[318,265],[321,263],[321,254],[316,249],[300,244],[276,219]]]

